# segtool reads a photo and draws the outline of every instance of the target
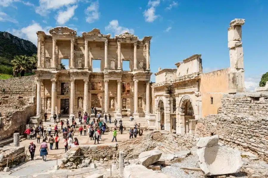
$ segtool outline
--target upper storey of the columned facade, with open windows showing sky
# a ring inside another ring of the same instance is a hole
[[[99,29],[77,32],[68,27],[38,31],[38,70],[61,70],[61,60],[69,60],[69,70],[92,71],[93,60],[100,60],[101,71],[122,71],[122,61],[129,61],[129,71],[150,70],[150,40],[125,32],[110,38]]]

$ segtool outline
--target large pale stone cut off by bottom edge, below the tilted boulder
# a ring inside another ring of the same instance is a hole
[[[174,178],[173,176],[164,174],[164,173],[158,173],[151,169],[147,169],[145,166],[142,166],[140,164],[133,164],[125,166],[124,168],[124,178]]]

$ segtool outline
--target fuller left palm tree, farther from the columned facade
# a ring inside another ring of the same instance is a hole
[[[13,75],[14,77],[18,76],[18,73],[21,73],[21,77],[24,76],[24,73],[29,69],[30,59],[26,55],[15,56],[11,61],[13,64]]]

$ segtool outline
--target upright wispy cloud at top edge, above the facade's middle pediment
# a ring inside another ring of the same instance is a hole
[[[92,2],[90,6],[85,9],[85,14],[88,15],[86,18],[88,23],[93,23],[96,20],[99,20],[99,1]]]

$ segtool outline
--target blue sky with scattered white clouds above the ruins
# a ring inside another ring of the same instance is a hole
[[[264,0],[0,0],[0,31],[36,44],[36,31],[55,26],[68,26],[78,35],[92,28],[112,36],[128,30],[140,39],[153,36],[152,72],[175,68],[174,63],[197,53],[208,72],[229,67],[229,22],[244,18],[245,85],[254,89],[267,72],[267,7]]]

